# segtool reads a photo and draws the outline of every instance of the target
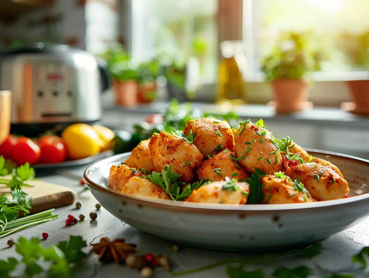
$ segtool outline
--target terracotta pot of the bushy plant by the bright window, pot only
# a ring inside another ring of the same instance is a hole
[[[307,108],[309,88],[304,80],[279,79],[272,82],[277,113],[290,113]]]

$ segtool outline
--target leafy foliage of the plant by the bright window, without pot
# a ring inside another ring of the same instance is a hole
[[[320,71],[325,53],[311,47],[309,33],[282,33],[272,53],[261,63],[268,82],[278,79],[306,79],[307,74]]]

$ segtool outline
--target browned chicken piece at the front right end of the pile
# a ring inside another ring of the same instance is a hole
[[[299,179],[311,196],[318,201],[341,199],[350,190],[348,183],[331,167],[315,162],[303,163],[288,168],[286,175],[292,180]]]

